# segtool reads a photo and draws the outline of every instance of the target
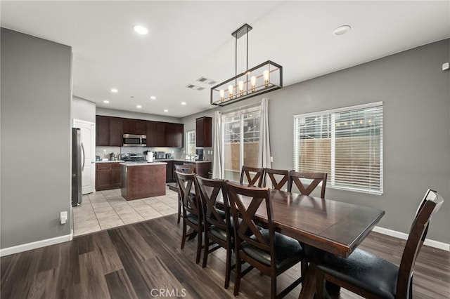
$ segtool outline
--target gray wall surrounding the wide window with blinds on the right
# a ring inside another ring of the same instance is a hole
[[[378,226],[408,233],[420,199],[432,188],[444,205],[428,238],[450,244],[450,72],[442,71],[449,53],[447,39],[262,95],[270,99],[272,167],[293,169],[295,114],[383,101],[383,196],[327,188],[326,197],[381,208],[386,214]],[[201,115],[184,117],[185,128]]]

